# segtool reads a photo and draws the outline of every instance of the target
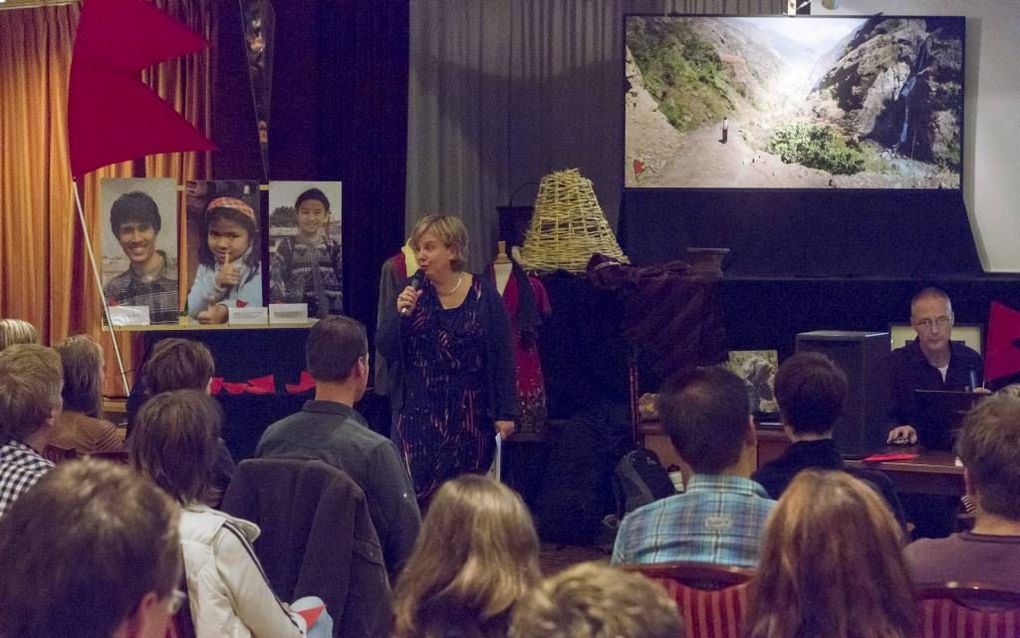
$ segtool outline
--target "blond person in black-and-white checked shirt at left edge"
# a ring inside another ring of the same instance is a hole
[[[60,356],[35,344],[0,352],[0,518],[53,463],[41,452],[63,402]]]

